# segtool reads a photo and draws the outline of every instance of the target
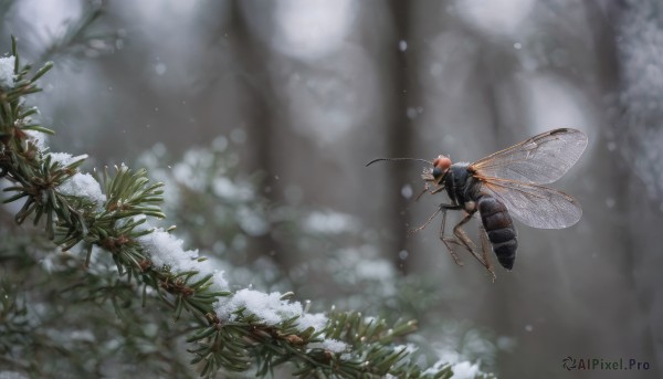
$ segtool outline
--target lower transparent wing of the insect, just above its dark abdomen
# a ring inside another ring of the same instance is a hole
[[[508,179],[476,178],[483,182],[483,193],[502,201],[509,214],[532,228],[564,229],[582,217],[580,203],[564,192]]]

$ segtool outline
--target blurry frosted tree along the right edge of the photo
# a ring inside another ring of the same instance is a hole
[[[625,227],[623,263],[644,316],[639,330],[646,336],[643,345],[653,349],[661,372],[663,280],[652,267],[663,265],[663,250],[652,236],[663,213],[663,7],[659,1],[627,1],[610,4],[604,12],[611,22],[603,34],[613,42],[607,45],[615,56],[615,63],[606,64],[614,75],[603,82],[611,90],[603,97],[612,125],[606,140],[608,149],[621,157],[612,176],[620,178],[623,199],[617,206]]]

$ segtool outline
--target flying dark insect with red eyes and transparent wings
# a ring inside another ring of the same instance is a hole
[[[572,197],[541,185],[561,178],[580,158],[587,147],[587,136],[576,129],[561,128],[541,133],[509,148],[492,154],[473,164],[452,164],[440,155],[433,161],[418,158],[378,158],[381,160],[419,160],[431,165],[421,178],[423,191],[435,194],[446,191],[449,203],[440,208],[421,227],[425,228],[442,213],[440,239],[455,263],[462,265],[456,248],[467,250],[495,280],[488,259],[492,250],[499,264],[512,270],[516,261],[518,236],[512,215],[524,224],[538,229],[564,229],[573,225],[582,215],[580,203]],[[463,219],[446,236],[446,211],[463,211]],[[478,233],[482,253],[463,230],[475,213],[480,214]]]

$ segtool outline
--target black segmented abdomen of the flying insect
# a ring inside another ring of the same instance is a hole
[[[514,222],[506,207],[492,196],[481,197],[477,207],[481,221],[488,233],[488,240],[493,244],[493,251],[497,255],[497,261],[504,269],[512,270],[516,262],[518,240]]]

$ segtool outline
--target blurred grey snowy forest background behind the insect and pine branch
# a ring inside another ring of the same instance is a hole
[[[71,33],[99,7],[85,38]],[[567,356],[663,375],[660,1],[1,8],[0,51],[13,34],[23,60],[55,62],[36,104],[57,131],[51,149],[148,167],[170,186],[169,223],[238,288],[417,318],[419,344],[503,378],[627,377],[566,371]],[[444,199],[414,202],[422,164],[364,167],[473,161],[558,127],[589,136],[552,185],[583,217],[567,230],[517,224],[514,271],[496,267],[494,284],[469,255],[453,263],[440,220],[407,235]],[[17,230],[11,209],[0,215]]]

